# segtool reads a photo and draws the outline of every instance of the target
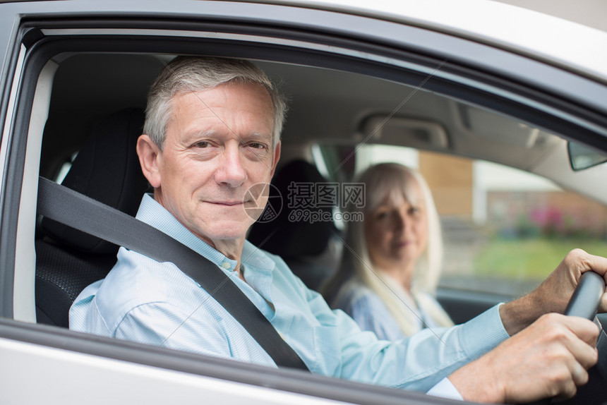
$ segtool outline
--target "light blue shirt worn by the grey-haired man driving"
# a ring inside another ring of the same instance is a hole
[[[245,242],[244,282],[234,272],[235,260],[194,236],[150,195],[137,217],[220,267],[313,373],[421,392],[445,379],[435,387],[440,393],[445,385],[452,389],[445,377],[507,338],[496,306],[464,325],[380,341],[341,310],[331,310],[280,257]],[[239,322],[174,264],[125,248],[107,277],[76,298],[70,328],[276,367]]]

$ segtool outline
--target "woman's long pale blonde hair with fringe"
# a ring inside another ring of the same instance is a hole
[[[438,212],[428,184],[417,171],[397,163],[382,163],[368,167],[354,181],[365,184],[365,205],[348,207],[350,212],[362,212],[363,216],[371,215],[386,198],[404,198],[413,205],[422,204],[425,207],[428,224],[428,241],[426,249],[416,261],[411,283],[411,294],[419,296],[433,295],[440,277],[443,262],[443,236],[440,230]],[[421,195],[417,195],[417,183]],[[355,217],[355,216],[353,216]],[[385,306],[399,323],[404,334],[411,334],[416,329],[414,322],[416,316],[411,311],[403,311],[404,303],[386,286],[380,269],[378,269],[368,254],[364,222],[348,222],[344,238],[342,263],[336,274],[325,286],[325,298],[328,302],[335,299],[339,286],[351,277],[358,277],[385,303]],[[426,305],[426,299],[416,300],[428,315],[441,326],[452,325],[444,310],[440,306]],[[438,307],[424,308],[424,307]],[[446,318],[446,319],[445,319]]]

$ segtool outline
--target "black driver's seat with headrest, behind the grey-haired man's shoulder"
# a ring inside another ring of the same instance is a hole
[[[136,153],[143,128],[140,109],[118,111],[92,131],[62,184],[135,215],[148,188]],[[36,246],[37,322],[68,327],[68,311],[85,286],[104,278],[116,262],[118,246],[42,218]]]

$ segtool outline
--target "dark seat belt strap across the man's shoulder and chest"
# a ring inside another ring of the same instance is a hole
[[[205,289],[251,334],[279,366],[308,370],[272,324],[213,262],[153,226],[109,205],[40,177],[38,214],[124,246],[159,262],[172,262]]]

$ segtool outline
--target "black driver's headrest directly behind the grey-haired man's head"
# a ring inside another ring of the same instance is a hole
[[[101,121],[92,131],[62,184],[90,198],[135,215],[148,188],[136,152],[143,111],[125,109]],[[112,253],[116,246],[51,219],[42,228],[55,241],[86,253]]]

